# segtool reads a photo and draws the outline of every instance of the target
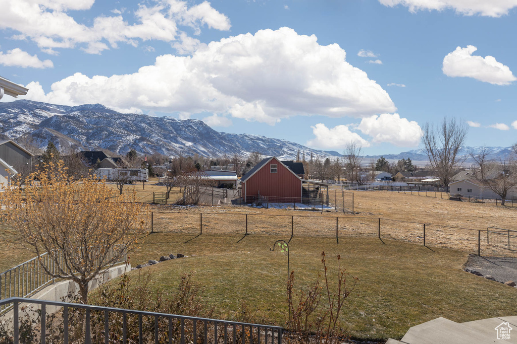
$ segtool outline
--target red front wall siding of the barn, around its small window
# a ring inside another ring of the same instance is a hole
[[[271,173],[271,165],[277,165],[277,173]],[[301,198],[301,180],[280,161],[273,158],[245,183],[246,196]]]

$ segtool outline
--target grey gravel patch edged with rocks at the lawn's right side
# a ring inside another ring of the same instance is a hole
[[[514,257],[480,257],[470,255],[465,264],[465,271],[490,275],[500,283],[514,281],[517,283],[517,258]]]

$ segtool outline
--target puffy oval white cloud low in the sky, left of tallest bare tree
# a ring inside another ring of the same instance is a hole
[[[417,122],[400,118],[398,113],[363,118],[358,129],[373,137],[372,142],[388,142],[400,147],[417,146],[422,136],[422,129]]]

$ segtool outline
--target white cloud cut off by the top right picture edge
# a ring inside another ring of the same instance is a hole
[[[517,0],[379,0],[385,6],[402,5],[409,11],[453,9],[463,15],[483,15],[501,17],[517,7]]]

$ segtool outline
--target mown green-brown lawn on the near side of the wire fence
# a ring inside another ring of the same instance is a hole
[[[216,308],[214,317],[235,319],[245,300],[258,311],[257,319],[283,325],[287,256],[278,249],[269,251],[277,239],[288,237],[158,233],[145,238],[130,261],[136,266],[160,255],[184,253],[189,257],[142,271],[153,273],[156,288],[167,289],[195,270],[195,280],[205,286],[206,299]],[[464,272],[466,253],[377,238],[341,238],[336,244],[329,238],[295,236],[290,258],[297,287],[311,284],[322,271],[322,251],[331,278],[336,279],[340,254],[342,266],[360,279],[342,314],[344,331],[353,338],[400,339],[410,326],[440,316],[464,322],[517,314],[517,289]]]

